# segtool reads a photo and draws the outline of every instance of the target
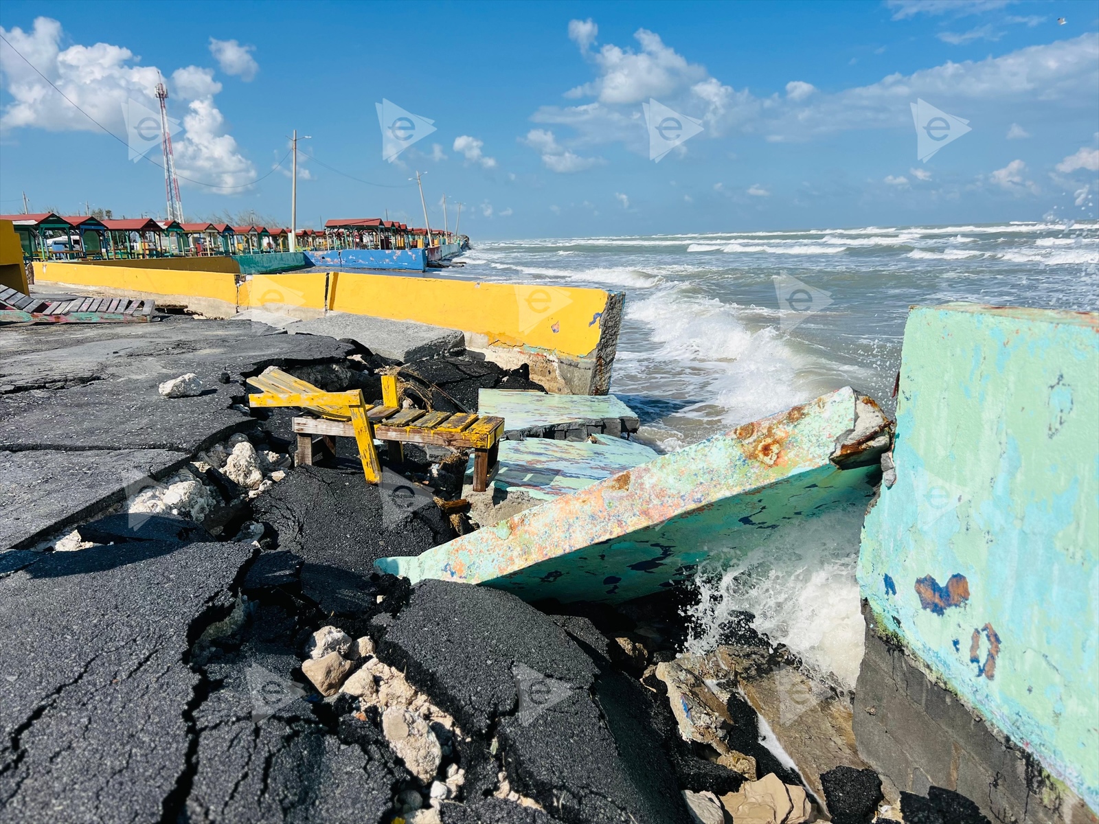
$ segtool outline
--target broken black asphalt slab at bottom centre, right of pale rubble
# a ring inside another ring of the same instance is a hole
[[[599,667],[547,615],[510,593],[428,580],[371,627],[379,657],[467,734],[495,732],[512,789],[553,817],[688,821],[655,734],[631,721],[635,709],[601,702]],[[470,772],[467,789],[477,783]]]

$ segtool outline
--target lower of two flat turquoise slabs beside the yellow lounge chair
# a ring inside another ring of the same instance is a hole
[[[548,501],[656,457],[658,453],[644,444],[608,435],[592,435],[581,442],[544,437],[501,441],[500,468],[492,485]],[[473,478],[471,457],[466,475]]]

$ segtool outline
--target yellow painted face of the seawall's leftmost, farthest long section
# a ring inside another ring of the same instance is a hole
[[[236,276],[230,272],[35,260],[34,279],[129,293],[191,296],[236,305]]]

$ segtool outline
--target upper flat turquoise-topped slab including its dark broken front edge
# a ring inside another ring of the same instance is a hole
[[[636,432],[637,413],[613,394],[547,394],[514,389],[481,389],[477,410],[504,421],[509,437],[556,437],[584,441],[588,435],[618,437]]]

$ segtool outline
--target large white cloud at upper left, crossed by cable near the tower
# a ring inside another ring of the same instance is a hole
[[[37,18],[30,32],[13,27],[10,31],[0,29],[0,33],[65,97],[116,136],[125,134],[122,109],[127,100],[133,99],[154,111],[158,108],[153,89],[162,74],[168,73],[160,73],[155,66],[131,65],[138,58],[129,48],[97,43],[63,49],[62,25],[51,18]],[[189,101],[182,116],[186,134],[182,140],[177,136],[173,141],[180,185],[188,186],[190,181],[185,178],[193,178],[214,185],[215,191],[223,192],[224,187],[255,180],[252,162],[226,134],[225,119],[214,105],[213,98],[221,91],[221,83],[213,79],[213,71],[186,66],[168,76],[173,93],[168,113],[178,116],[179,104],[174,104],[174,100]],[[0,127],[100,131],[7,46],[0,46],[0,80],[11,97],[0,114]],[[151,159],[159,163],[155,153]]]

